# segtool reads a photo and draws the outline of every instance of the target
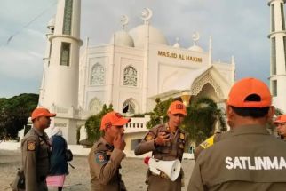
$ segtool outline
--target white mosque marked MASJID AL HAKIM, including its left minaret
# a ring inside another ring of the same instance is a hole
[[[39,106],[57,116],[69,144],[75,143],[76,128],[103,104],[112,104],[124,115],[143,114],[155,107],[155,99],[194,101],[208,96],[221,106],[234,83],[234,57],[230,63],[211,59],[209,47],[194,44],[181,47],[179,40],[169,44],[158,28],[152,26],[153,12],[145,8],[142,23],[110,34],[107,44],[83,44],[80,39],[81,0],[59,1],[55,19],[49,22],[48,43]],[[80,46],[82,54],[80,54]],[[186,103],[187,104],[187,103]],[[147,129],[144,118],[134,119],[125,134],[127,149],[141,139]]]

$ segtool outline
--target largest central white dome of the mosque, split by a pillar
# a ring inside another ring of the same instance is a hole
[[[139,25],[138,27],[130,30],[129,34],[133,37],[135,47],[144,47],[145,39],[147,36],[147,28],[147,25]],[[150,25],[149,43],[168,45],[167,39],[165,38],[165,36],[163,36],[163,33]]]

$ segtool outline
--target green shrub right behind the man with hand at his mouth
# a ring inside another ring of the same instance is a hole
[[[98,140],[102,136],[102,131],[100,131],[100,123],[103,115],[108,112],[113,111],[112,104],[107,107],[106,104],[103,105],[102,110],[97,115],[91,115],[85,122],[85,129],[87,133],[87,140],[91,143]]]

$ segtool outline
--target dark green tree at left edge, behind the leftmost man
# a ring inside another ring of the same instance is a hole
[[[28,117],[36,108],[39,96],[23,93],[10,99],[0,99],[0,139],[15,139],[18,131],[28,123]]]

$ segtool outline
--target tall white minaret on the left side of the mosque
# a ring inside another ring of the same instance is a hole
[[[81,0],[58,1],[54,26],[49,26],[49,50],[40,90],[39,106],[57,113],[52,125],[61,127],[68,143],[75,143],[79,118],[80,11]]]

